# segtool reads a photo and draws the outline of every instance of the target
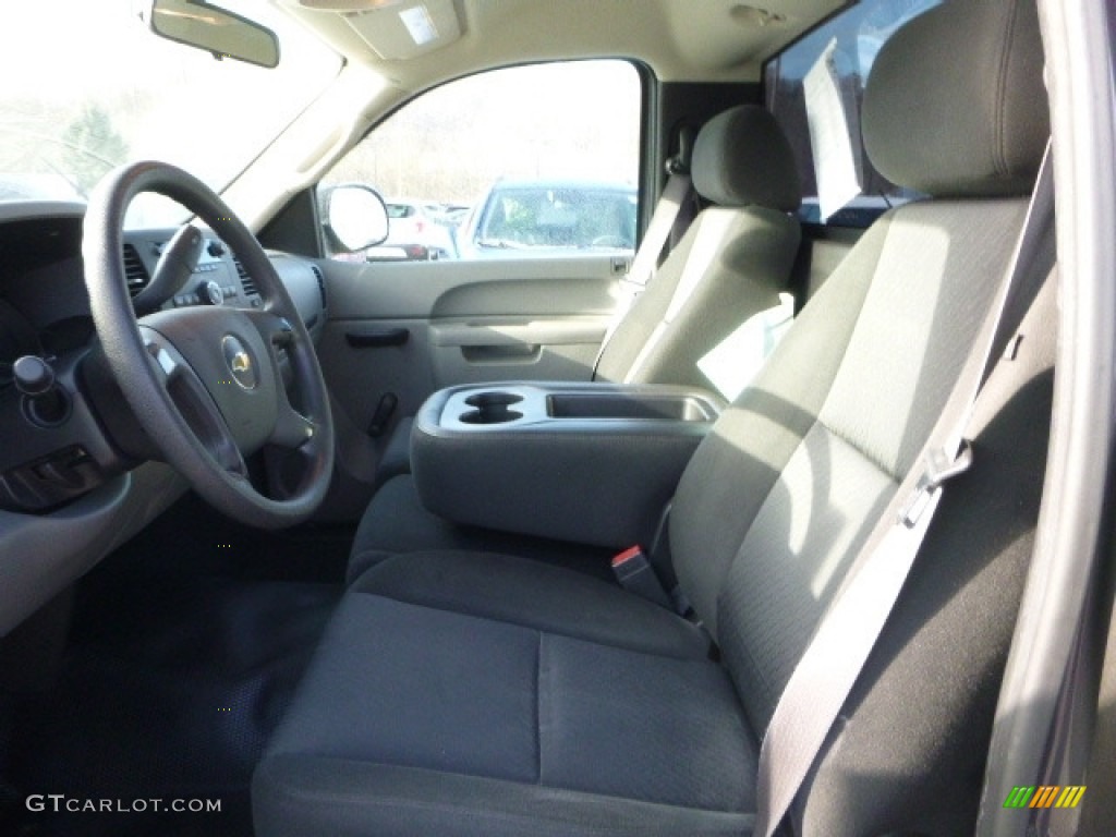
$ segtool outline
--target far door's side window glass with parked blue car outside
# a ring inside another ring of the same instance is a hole
[[[345,260],[631,254],[641,79],[627,61],[540,64],[405,105],[323,179],[376,189],[388,237]]]

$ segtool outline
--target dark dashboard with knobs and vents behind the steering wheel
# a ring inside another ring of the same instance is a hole
[[[106,415],[127,411],[94,362],[99,343],[83,269],[84,211],[79,203],[0,204],[0,635],[185,489],[155,456],[136,454],[153,450],[142,440],[131,444],[138,425],[116,419],[123,424],[104,426]],[[133,298],[175,232],[125,231],[121,257]],[[262,307],[235,254],[202,233],[193,272],[160,308]],[[269,257],[316,341],[326,319],[320,269],[299,257]]]

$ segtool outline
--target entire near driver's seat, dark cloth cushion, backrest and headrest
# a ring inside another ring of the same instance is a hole
[[[257,768],[257,833],[749,834],[757,742],[1010,261],[1048,134],[1041,68],[1028,0],[945,3],[881,50],[865,145],[935,200],[864,235],[683,473],[671,554],[708,636],[521,556],[381,560]],[[801,837],[972,833],[1038,517],[1051,290],[988,382],[975,464],[799,795]]]

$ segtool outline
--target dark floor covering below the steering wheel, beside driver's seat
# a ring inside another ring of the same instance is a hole
[[[4,699],[0,833],[251,835],[252,768],[340,596],[350,538],[261,533],[191,497],[106,558],[77,588],[49,687]],[[54,812],[59,793],[86,810]]]

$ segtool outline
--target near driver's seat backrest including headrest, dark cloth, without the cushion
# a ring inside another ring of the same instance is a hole
[[[1033,0],[949,2],[879,52],[865,147],[934,199],[860,239],[698,449],[671,517],[683,593],[757,737],[941,412],[1048,132]],[[952,833],[975,809],[1045,455],[1048,386],[1028,382],[946,494],[798,811],[802,834]],[[981,449],[997,445],[1011,453],[990,466]]]

